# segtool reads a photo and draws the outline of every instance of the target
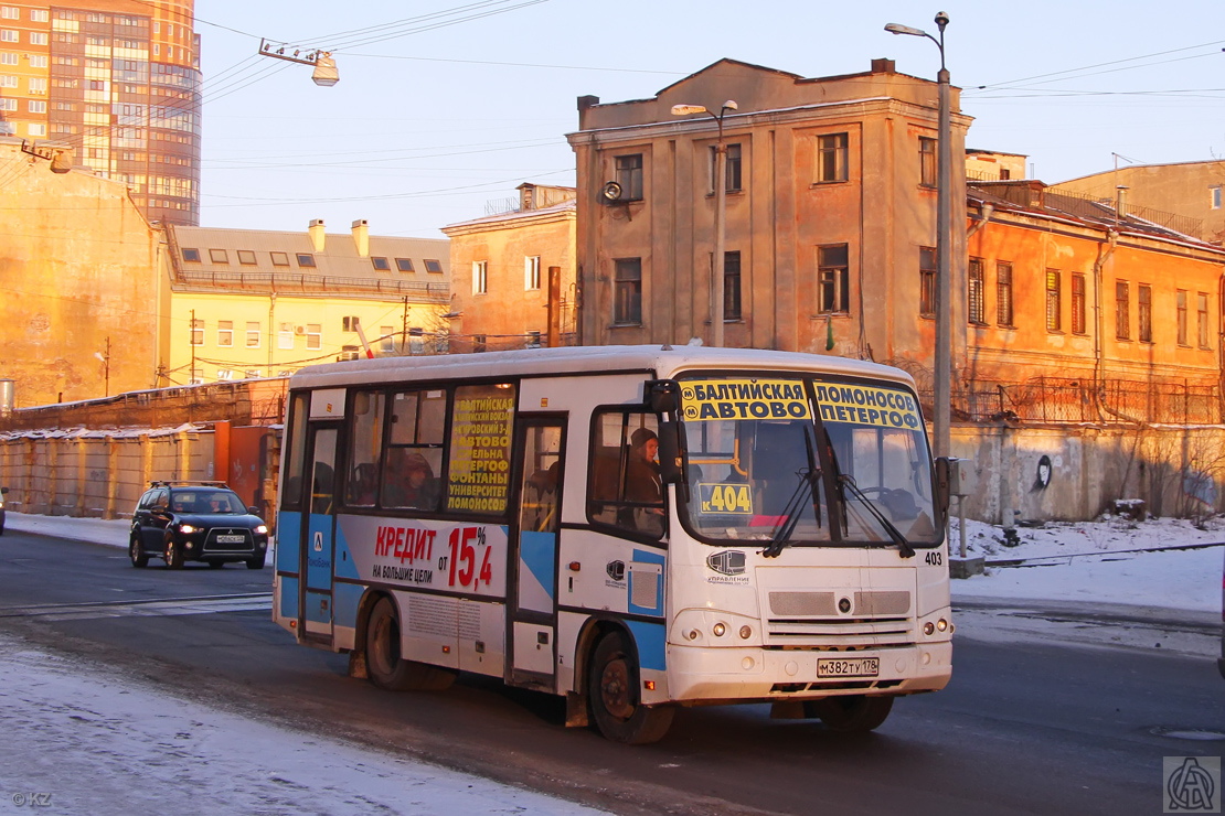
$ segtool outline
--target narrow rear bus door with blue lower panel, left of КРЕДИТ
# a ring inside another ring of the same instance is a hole
[[[299,548],[301,602],[299,631],[305,637],[332,640],[332,555],[336,531],[336,440],[334,425],[311,425],[310,494],[303,503],[303,541]]]

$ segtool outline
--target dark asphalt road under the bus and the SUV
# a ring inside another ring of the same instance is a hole
[[[1066,615],[1014,636],[965,612],[949,688],[899,700],[873,734],[712,707],[626,747],[564,728],[560,700],[485,678],[399,695],[353,680],[345,657],[271,623],[271,566],[135,570],[120,549],[9,531],[0,630],[229,711],[624,814],[1159,814],[1163,757],[1225,747],[1225,680],[1194,632],[1180,648],[1199,655],[1087,646]]]

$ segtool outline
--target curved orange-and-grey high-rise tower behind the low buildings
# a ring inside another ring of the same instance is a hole
[[[0,0],[0,136],[66,144],[154,221],[200,223],[194,0]]]

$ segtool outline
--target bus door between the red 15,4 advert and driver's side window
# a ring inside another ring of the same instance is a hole
[[[518,437],[523,471],[510,552],[506,681],[552,691],[557,670],[557,530],[565,417],[526,418]]]

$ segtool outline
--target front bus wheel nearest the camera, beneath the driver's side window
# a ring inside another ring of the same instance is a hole
[[[643,706],[638,666],[621,632],[595,645],[587,689],[592,719],[605,739],[625,745],[658,743],[673,724],[670,706]]]

